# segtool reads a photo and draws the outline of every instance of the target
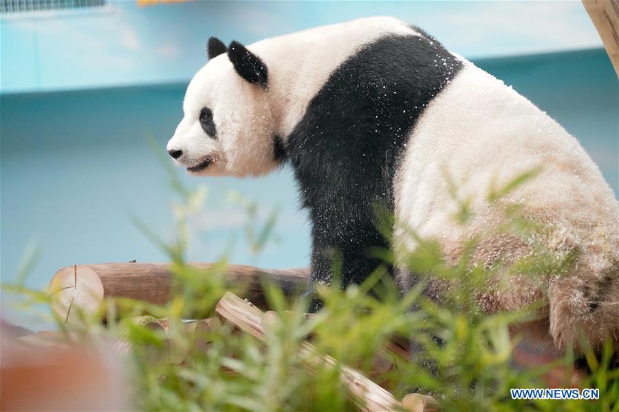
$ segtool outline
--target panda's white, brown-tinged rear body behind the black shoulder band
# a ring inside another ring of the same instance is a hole
[[[619,347],[619,207],[611,188],[574,137],[470,62],[464,61],[411,132],[394,181],[400,222],[396,242],[414,250],[413,229],[422,238],[439,240],[456,260],[464,240],[492,233],[500,222],[487,201],[488,190],[538,167],[541,173],[499,207],[520,205],[525,216],[549,229],[543,238],[546,247],[556,253],[578,249],[576,264],[569,273],[539,282],[514,276],[498,291],[490,289],[496,279],[488,279],[488,290],[480,291],[481,305],[493,312],[545,299],[549,306],[543,334],[556,348],[573,343],[579,329],[596,347],[609,337]],[[455,219],[459,206],[447,176],[457,197],[470,201],[475,218],[469,225]],[[530,253],[532,249],[497,236],[483,240],[477,258],[514,262]],[[590,295],[604,297],[597,310],[589,308]]]

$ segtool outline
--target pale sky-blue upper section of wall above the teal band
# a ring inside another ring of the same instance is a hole
[[[58,91],[173,82],[206,61],[208,36],[265,37],[368,16],[423,27],[467,57],[601,47],[580,1],[186,1],[1,16],[0,91]],[[549,21],[548,16],[552,16]]]

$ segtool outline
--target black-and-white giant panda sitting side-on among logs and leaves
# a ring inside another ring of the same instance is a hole
[[[557,350],[574,345],[579,330],[595,347],[619,346],[616,197],[578,141],[511,87],[390,17],[248,47],[210,38],[208,56],[167,150],[197,176],[259,176],[289,163],[312,224],[312,284],[330,282],[333,251],[343,286],[380,264],[369,253],[389,246],[377,204],[395,215],[395,244],[414,251],[412,228],[455,260],[464,239],[497,224],[488,188],[542,165],[503,207],[517,204],[543,222],[547,247],[577,250],[576,262],[569,273],[544,274],[543,284],[514,275],[497,290],[488,279],[479,304],[496,312],[543,299],[532,333]],[[446,173],[475,213],[466,227],[453,219],[459,205]],[[478,258],[509,262],[529,249],[490,237]],[[395,266],[406,291],[415,275],[397,255]]]

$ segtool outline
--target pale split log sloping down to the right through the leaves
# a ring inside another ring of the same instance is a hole
[[[251,302],[241,299],[233,293],[227,292],[221,298],[215,312],[224,320],[232,323],[243,332],[247,332],[257,339],[265,339],[265,329],[272,327],[274,315],[264,319],[263,312]],[[263,321],[265,321],[263,325]],[[363,411],[395,411],[402,405],[391,393],[382,389],[355,369],[341,365],[329,355],[320,354],[311,343],[304,342],[301,345],[301,358],[310,370],[315,369],[317,364],[335,368],[340,365],[340,380],[349,390],[349,395]]]

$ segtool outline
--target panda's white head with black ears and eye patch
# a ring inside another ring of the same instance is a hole
[[[278,164],[268,70],[245,46],[208,40],[209,62],[187,87],[184,117],[167,150],[202,176],[258,176]]]

